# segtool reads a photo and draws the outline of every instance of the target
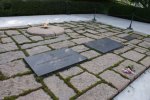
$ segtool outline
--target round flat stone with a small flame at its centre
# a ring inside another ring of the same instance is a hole
[[[44,28],[41,27],[30,27],[27,29],[27,32],[32,35],[41,35],[41,36],[57,36],[65,32],[64,28],[58,26],[48,26]]]

